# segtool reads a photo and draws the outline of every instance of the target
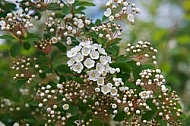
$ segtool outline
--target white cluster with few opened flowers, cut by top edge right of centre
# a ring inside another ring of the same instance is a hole
[[[122,20],[127,16],[128,20],[134,23],[134,14],[140,13],[140,9],[135,7],[134,3],[126,0],[108,0],[106,7],[107,10],[104,12],[104,16],[109,17],[110,21],[114,19]]]

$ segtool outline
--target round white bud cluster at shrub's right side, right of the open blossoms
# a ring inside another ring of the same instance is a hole
[[[150,42],[138,41],[135,46],[128,44],[126,51],[128,52],[128,56],[132,60],[136,61],[137,66],[145,64],[150,60],[153,62],[154,65],[157,64],[157,49],[153,48]]]

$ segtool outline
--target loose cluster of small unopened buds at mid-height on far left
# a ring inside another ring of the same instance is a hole
[[[31,83],[36,77],[36,72],[42,73],[39,64],[36,64],[36,58],[21,57],[18,61],[13,62],[13,66],[10,67],[16,71],[16,75],[13,77],[14,80],[27,79],[27,83]]]

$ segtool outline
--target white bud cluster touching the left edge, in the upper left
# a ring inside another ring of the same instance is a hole
[[[1,30],[6,30],[20,37],[24,35],[28,28],[32,28],[31,17],[26,14],[7,13],[0,21]]]

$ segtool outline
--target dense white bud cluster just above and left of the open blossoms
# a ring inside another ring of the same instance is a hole
[[[82,30],[87,27],[91,21],[86,19],[84,15],[65,15],[63,19],[55,17],[55,13],[51,13],[48,21],[45,22],[45,29],[48,33],[56,36],[58,39],[66,39],[66,44],[71,45],[71,37],[81,35]]]

